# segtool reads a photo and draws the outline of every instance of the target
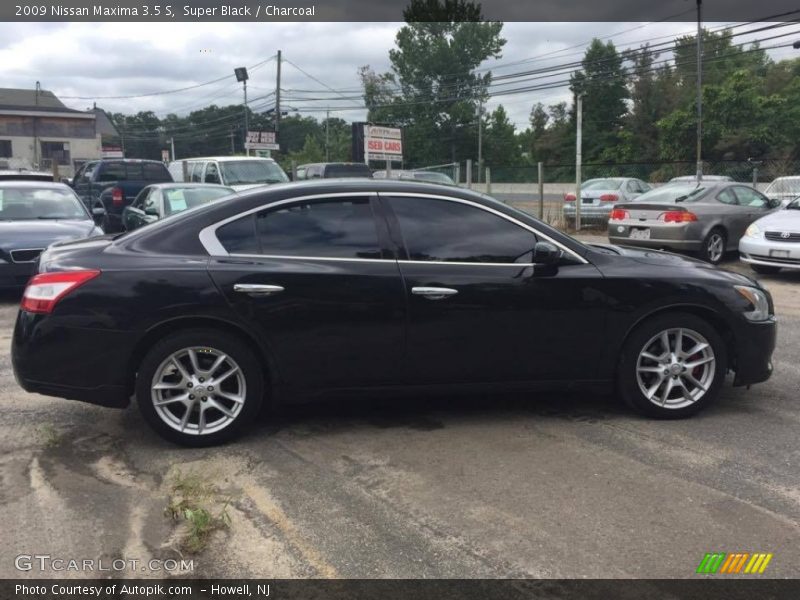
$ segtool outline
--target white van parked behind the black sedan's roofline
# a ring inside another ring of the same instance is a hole
[[[217,183],[237,192],[289,181],[274,160],[255,156],[182,158],[169,164],[169,172],[177,182]]]

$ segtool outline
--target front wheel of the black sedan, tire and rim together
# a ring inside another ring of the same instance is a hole
[[[639,412],[676,419],[712,402],[725,371],[725,344],[716,330],[695,315],[669,313],[631,334],[622,351],[618,388]]]

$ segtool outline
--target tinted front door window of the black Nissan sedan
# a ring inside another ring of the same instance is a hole
[[[536,236],[481,208],[450,200],[390,198],[409,260],[530,263]]]

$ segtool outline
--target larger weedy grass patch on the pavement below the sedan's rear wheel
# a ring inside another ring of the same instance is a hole
[[[202,552],[211,534],[230,526],[229,499],[220,498],[217,487],[200,475],[180,471],[170,484],[168,516],[186,525],[181,549],[189,554]]]

